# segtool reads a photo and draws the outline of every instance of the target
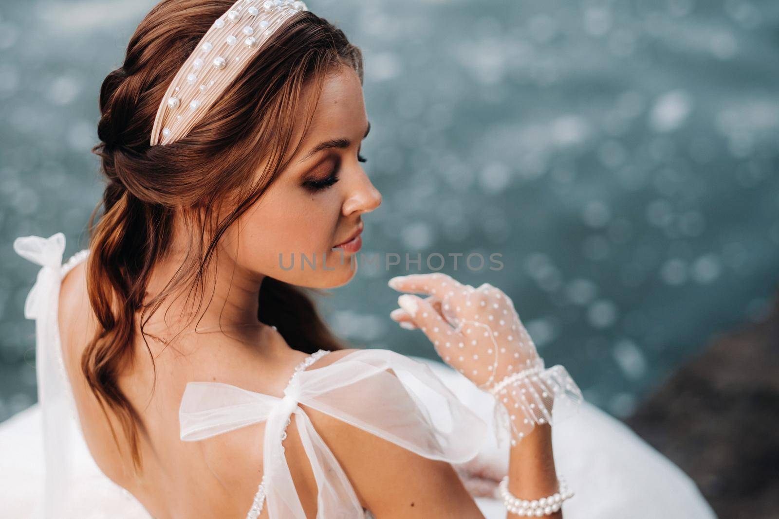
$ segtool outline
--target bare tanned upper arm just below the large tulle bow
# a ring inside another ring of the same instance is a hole
[[[359,350],[337,350],[321,360],[330,357],[333,363],[355,351]],[[360,396],[375,400],[372,404],[381,409],[381,395]],[[324,412],[302,407],[344,468],[362,506],[376,517],[484,517],[448,462],[425,458]]]

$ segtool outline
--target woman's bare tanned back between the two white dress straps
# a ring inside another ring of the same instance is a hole
[[[80,358],[95,331],[86,296],[85,268],[76,265],[62,281],[59,323],[63,358],[72,384],[83,435],[100,469],[128,489],[154,517],[242,517],[262,478],[264,424],[192,444],[179,437],[178,406],[190,380],[220,381],[266,395],[283,396],[294,366],[306,354],[291,349],[272,328],[264,328],[263,347],[273,349],[273,362],[257,349],[230,342],[214,334],[190,335],[178,346],[164,348],[137,338],[134,365],[122,373],[120,388],[143,419],[139,436],[143,470],[134,475],[129,443],[112,412],[119,449],[97,398],[86,384]],[[209,344],[211,342],[211,344]],[[259,348],[259,347],[258,347]],[[182,350],[186,349],[186,352]],[[347,350],[344,350],[346,352]],[[319,359],[308,369],[334,362],[341,352]],[[156,384],[153,380],[156,368]],[[316,414],[315,412],[312,413]],[[315,420],[315,417],[312,416]],[[325,424],[322,424],[326,427]],[[307,514],[315,516],[315,480],[295,428],[289,428],[287,462]],[[311,492],[305,492],[310,489]],[[308,498],[306,496],[309,496]],[[264,514],[260,517],[266,517]]]

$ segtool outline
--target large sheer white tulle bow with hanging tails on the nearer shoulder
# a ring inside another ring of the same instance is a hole
[[[181,437],[203,440],[266,422],[265,506],[272,519],[305,519],[281,442],[287,418],[294,413],[319,488],[318,517],[365,517],[343,469],[298,403],[425,458],[449,463],[474,458],[488,433],[486,423],[425,363],[387,349],[365,349],[301,371],[284,398],[230,384],[190,382],[179,413]]]

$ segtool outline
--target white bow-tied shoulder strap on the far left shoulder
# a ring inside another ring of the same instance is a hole
[[[75,415],[58,330],[65,235],[18,237],[13,242],[13,249],[23,258],[41,265],[24,303],[24,317],[35,320],[35,369],[44,437],[43,517],[56,517],[58,504],[65,503],[68,493],[71,463],[69,433]],[[88,249],[85,251],[89,252]],[[69,266],[75,266],[77,261],[86,258],[85,251],[71,258]]]

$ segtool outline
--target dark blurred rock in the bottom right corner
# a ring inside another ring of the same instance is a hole
[[[717,338],[626,422],[720,517],[779,517],[779,297],[765,321]]]

